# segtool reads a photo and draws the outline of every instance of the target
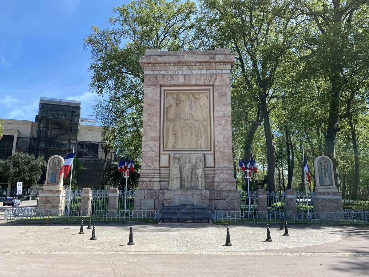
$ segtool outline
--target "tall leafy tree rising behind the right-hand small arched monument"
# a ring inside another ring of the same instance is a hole
[[[368,79],[368,1],[301,1],[301,12],[313,24],[304,47],[312,76],[325,78],[323,93],[327,101],[324,154],[333,161],[336,184],[339,184],[335,153],[339,119],[348,116],[351,101]],[[315,28],[314,28],[315,27]],[[355,84],[355,85],[354,85]],[[356,88],[354,91],[351,88]],[[346,105],[342,100],[346,94]]]

